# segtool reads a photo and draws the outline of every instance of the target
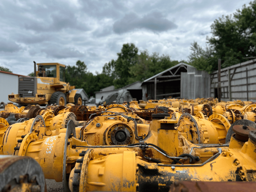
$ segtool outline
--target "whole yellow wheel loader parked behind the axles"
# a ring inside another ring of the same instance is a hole
[[[20,105],[66,105],[67,102],[82,105],[83,98],[77,93],[78,89],[65,82],[65,67],[60,63],[36,64],[34,61],[35,76],[20,77],[18,94],[12,93],[8,99]]]

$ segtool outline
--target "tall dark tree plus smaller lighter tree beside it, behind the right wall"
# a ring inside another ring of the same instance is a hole
[[[256,56],[256,0],[243,5],[232,15],[222,15],[211,25],[211,37],[202,48],[194,42],[191,44],[189,62],[199,70],[211,73],[221,68],[253,59]]]

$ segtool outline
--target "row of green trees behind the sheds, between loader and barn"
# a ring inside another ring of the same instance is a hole
[[[96,72],[96,75],[88,71],[84,61],[78,60],[76,66],[66,67],[66,82],[76,88],[83,88],[88,96],[93,96],[94,92],[102,88],[114,85],[118,89],[136,81],[144,81],[180,62],[186,62],[171,60],[169,55],[149,55],[147,50],[138,53],[138,48],[132,43],[124,44],[117,55],[116,60],[105,63],[102,72]]]

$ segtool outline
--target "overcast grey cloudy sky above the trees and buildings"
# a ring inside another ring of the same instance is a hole
[[[37,63],[90,72],[116,59],[125,43],[149,54],[188,60],[193,41],[205,46],[211,24],[248,0],[1,0],[0,66],[28,75]]]

